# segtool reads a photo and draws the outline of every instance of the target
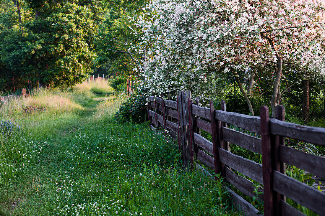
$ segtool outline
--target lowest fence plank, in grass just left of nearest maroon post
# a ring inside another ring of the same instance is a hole
[[[230,196],[233,199],[234,206],[236,206],[239,211],[243,211],[244,215],[261,215],[261,213],[257,209],[255,209],[255,207],[251,203],[247,202],[244,198],[240,197],[230,188],[226,187],[226,191],[230,193]]]

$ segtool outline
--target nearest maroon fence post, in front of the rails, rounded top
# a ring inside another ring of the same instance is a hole
[[[269,112],[267,106],[261,106],[261,136],[262,136],[262,169],[264,184],[264,214],[274,215],[273,192],[272,192],[272,149],[269,130]]]

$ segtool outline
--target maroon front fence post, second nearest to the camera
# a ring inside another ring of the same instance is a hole
[[[213,160],[214,160],[214,173],[219,174],[221,171],[218,141],[217,141],[217,126],[215,122],[214,106],[213,101],[210,101],[210,116],[211,116],[211,134],[212,134],[212,145],[213,145]]]

